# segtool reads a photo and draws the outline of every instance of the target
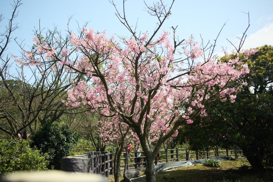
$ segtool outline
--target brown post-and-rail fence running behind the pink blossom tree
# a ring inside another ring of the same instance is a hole
[[[123,155],[123,158],[121,158],[122,164],[120,165],[120,167],[124,167],[127,170],[130,167],[137,169],[141,165],[143,165],[142,167],[146,167],[146,158],[143,151],[134,150],[128,152],[127,148],[126,152],[121,152],[121,154]],[[113,151],[106,151],[86,152],[84,154],[75,155],[74,158],[64,157],[61,161],[61,170],[96,173],[104,175],[105,177],[109,177],[109,174],[113,174],[114,156],[115,153]],[[228,150],[227,148],[218,148],[216,146],[213,148],[206,148],[199,151],[187,150],[186,148],[173,148],[159,150],[155,158],[155,164],[179,160],[198,160],[218,156],[234,156],[234,158],[237,159],[238,157],[242,157],[243,153],[242,150],[238,150],[237,147],[233,148],[232,150]],[[82,158],[86,160],[85,163],[82,163]],[[80,167],[77,166],[77,162],[80,163],[78,166],[86,165],[86,167],[79,169]]]

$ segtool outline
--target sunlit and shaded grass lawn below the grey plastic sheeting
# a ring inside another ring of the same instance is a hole
[[[250,166],[247,160],[221,161],[222,167],[212,168],[202,164],[174,168],[168,171],[156,173],[156,182],[261,182],[263,175],[253,175],[248,169]],[[243,167],[242,167],[243,166]],[[224,179],[224,180],[223,180]],[[109,181],[114,181],[110,177]],[[123,181],[121,175],[120,181]],[[145,177],[136,179],[135,182],[145,182]]]

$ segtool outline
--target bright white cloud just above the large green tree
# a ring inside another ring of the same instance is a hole
[[[257,32],[247,36],[243,49],[260,47],[265,44],[273,45],[273,23],[268,24]]]

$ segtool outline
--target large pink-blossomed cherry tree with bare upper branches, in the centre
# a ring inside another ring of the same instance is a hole
[[[105,133],[118,130],[121,137],[130,130],[136,133],[147,160],[146,181],[152,182],[155,156],[164,141],[176,136],[182,125],[193,123],[197,115],[205,116],[205,106],[210,103],[234,102],[240,79],[249,72],[239,56],[227,61],[217,59],[214,48],[218,37],[212,44],[199,44],[193,37],[179,40],[172,27],[172,43],[171,33],[160,31],[172,6],[173,1],[169,7],[161,1],[147,5],[147,12],[158,18],[158,24],[154,32],[143,34],[136,34],[125,11],[121,14],[116,9],[131,37],[115,41],[106,32],[83,27],[78,36],[70,32],[71,47],[62,49],[62,58],[54,46],[34,38],[40,46],[38,51],[49,62],[84,75],[67,91],[67,106],[84,106],[109,118],[102,130]],[[241,52],[244,36],[237,53]],[[71,51],[77,54],[76,61],[71,59]]]

